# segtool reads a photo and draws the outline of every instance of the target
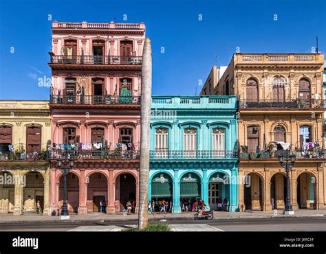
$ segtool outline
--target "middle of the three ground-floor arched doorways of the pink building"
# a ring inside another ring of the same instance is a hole
[[[102,173],[94,173],[89,176],[87,185],[87,211],[100,212],[101,200],[107,206],[107,177]],[[106,208],[102,212],[105,211]]]

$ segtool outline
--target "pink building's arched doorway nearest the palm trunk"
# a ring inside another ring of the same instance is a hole
[[[116,200],[118,211],[125,209],[127,202],[136,201],[136,181],[132,174],[120,174],[116,178]],[[135,205],[136,206],[136,205]]]

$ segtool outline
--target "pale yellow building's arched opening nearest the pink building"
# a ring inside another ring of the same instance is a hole
[[[23,187],[23,210],[35,211],[36,202],[40,201],[41,212],[44,211],[44,178],[39,172],[28,172],[26,185]]]

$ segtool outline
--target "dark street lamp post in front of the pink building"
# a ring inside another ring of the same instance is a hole
[[[67,166],[67,162],[69,161],[69,166]],[[63,165],[62,165],[63,164]],[[61,220],[68,220],[70,218],[69,211],[67,209],[67,174],[72,167],[74,167],[74,159],[70,159],[69,157],[64,159],[57,159],[56,165],[58,170],[63,172],[63,207],[61,210],[60,218]]]

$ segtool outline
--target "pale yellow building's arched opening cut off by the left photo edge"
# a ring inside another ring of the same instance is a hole
[[[14,176],[7,171],[0,172],[0,213],[14,211]]]

